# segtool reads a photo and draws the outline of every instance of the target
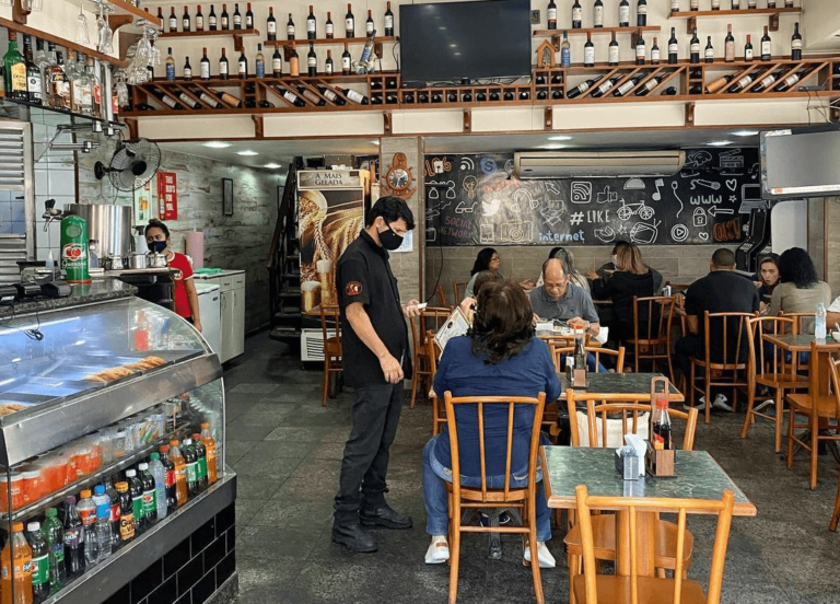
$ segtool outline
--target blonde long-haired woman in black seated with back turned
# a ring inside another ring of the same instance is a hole
[[[595,300],[612,301],[612,316],[606,322],[612,341],[627,341],[633,337],[633,297],[645,298],[654,291],[653,274],[642,262],[639,246],[628,243],[619,247],[612,275],[592,281]],[[642,320],[648,323],[648,317]]]

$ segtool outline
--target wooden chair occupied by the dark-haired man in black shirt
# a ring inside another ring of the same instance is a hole
[[[705,311],[703,313],[703,327],[704,327],[704,342],[703,350],[704,356],[702,359],[691,357],[691,375],[689,378],[689,405],[695,406],[695,393],[701,392],[705,396],[705,422],[709,423],[712,418],[712,400],[711,393],[712,386],[727,386],[733,390],[732,408],[737,410],[738,406],[738,388],[747,387],[747,361],[742,360],[743,357],[747,357],[747,327],[746,321],[752,316],[754,313],[710,313]],[[722,358],[711,358],[711,341],[712,341],[712,327],[720,326],[720,332],[715,329],[715,334],[720,336],[720,344],[723,348]],[[702,387],[697,386],[696,370],[700,368],[702,370]],[[738,372],[743,372],[743,378],[738,376]]]

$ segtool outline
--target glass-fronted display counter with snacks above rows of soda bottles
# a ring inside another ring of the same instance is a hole
[[[2,602],[235,597],[222,368],[133,291],[0,306]]]

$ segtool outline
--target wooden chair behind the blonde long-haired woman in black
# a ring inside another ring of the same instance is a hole
[[[628,341],[633,347],[633,371],[639,373],[639,361],[651,361],[651,371],[656,371],[656,361],[666,361],[668,379],[674,381],[670,364],[673,317],[674,297],[633,297],[633,337]]]

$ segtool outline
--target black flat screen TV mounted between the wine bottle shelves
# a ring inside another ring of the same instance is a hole
[[[402,85],[530,76],[529,0],[399,5]]]

